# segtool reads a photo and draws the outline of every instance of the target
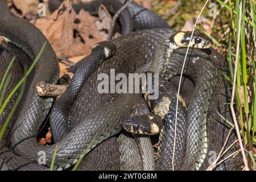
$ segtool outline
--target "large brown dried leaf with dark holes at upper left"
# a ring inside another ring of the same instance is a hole
[[[79,15],[70,1],[64,1],[51,16],[40,18],[36,27],[42,30],[60,58],[88,55],[102,41],[96,28],[96,18],[81,10]]]

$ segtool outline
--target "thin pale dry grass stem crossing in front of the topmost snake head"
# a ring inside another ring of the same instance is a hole
[[[196,22],[194,24],[194,27],[193,27],[193,31],[192,31],[192,34],[191,34],[191,38],[189,40],[189,44],[191,44],[191,40],[192,40],[192,36],[194,34],[194,31],[195,31],[195,28],[196,28],[196,24],[201,16],[201,14],[203,13],[203,10],[205,8],[205,6],[207,5],[209,0],[207,0],[207,2],[205,2],[204,4],[204,7],[203,9],[200,11],[200,14],[198,15],[197,19],[196,19]],[[182,66],[182,69],[181,69],[181,74],[180,74],[180,81],[179,81],[179,88],[178,88],[178,91],[177,91],[177,103],[176,103],[176,113],[175,113],[175,129],[174,129],[174,150],[173,150],[173,154],[172,154],[172,171],[174,171],[174,154],[175,154],[175,147],[176,147],[176,129],[177,129],[177,108],[178,108],[178,105],[179,105],[179,94],[180,94],[180,85],[181,85],[181,78],[182,78],[182,75],[183,75],[183,72],[184,72],[184,67],[185,67],[185,61],[187,59],[187,55],[188,55],[188,49],[189,49],[189,46],[187,48],[187,52],[186,52],[186,55],[185,55],[185,58],[184,58],[184,62],[183,62],[183,66]]]

